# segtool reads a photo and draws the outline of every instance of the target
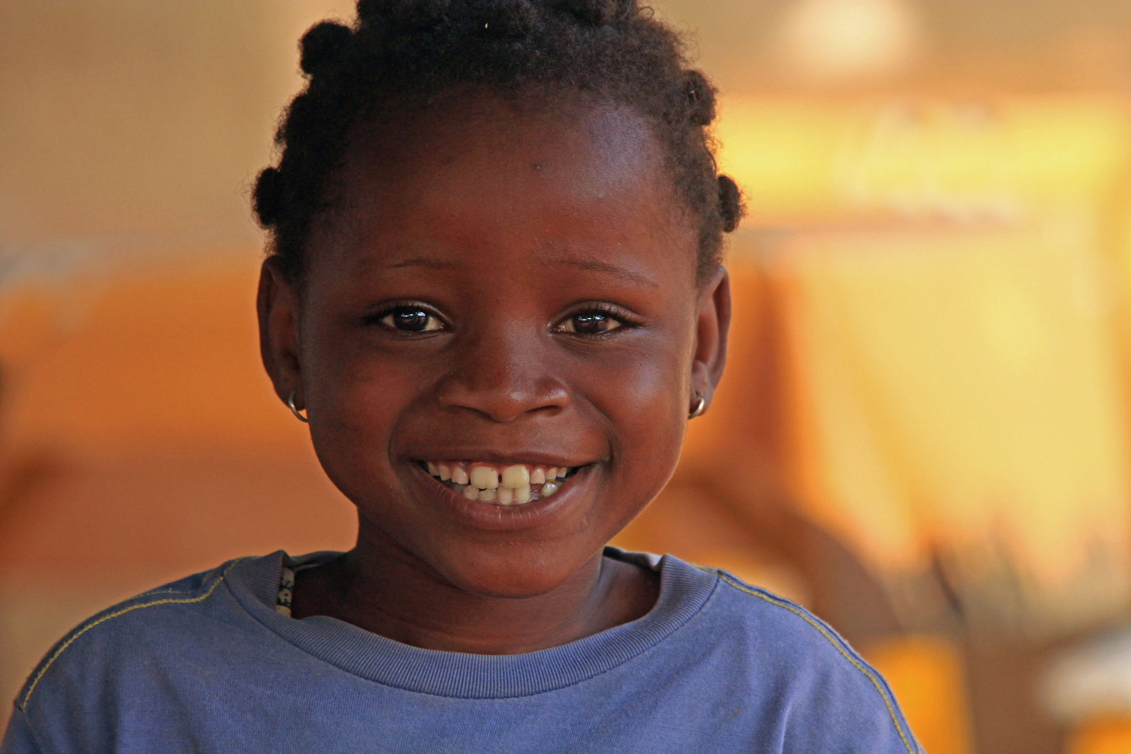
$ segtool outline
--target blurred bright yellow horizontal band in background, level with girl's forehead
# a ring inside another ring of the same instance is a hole
[[[1065,202],[1095,206],[1117,191],[1131,109],[1099,95],[733,98],[718,136],[719,164],[745,191],[757,225],[996,222]]]

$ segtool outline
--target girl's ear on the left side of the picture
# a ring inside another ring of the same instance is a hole
[[[301,410],[307,397],[299,357],[299,295],[269,259],[259,271],[256,310],[259,314],[259,355],[275,384],[275,395],[285,402],[294,391],[294,405]]]

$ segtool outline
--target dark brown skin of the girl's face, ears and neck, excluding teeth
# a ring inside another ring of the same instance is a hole
[[[264,362],[357,506],[293,616],[426,649],[529,652],[645,615],[656,575],[602,547],[670,478],[722,374],[725,271],[625,109],[454,93],[362,128],[300,289],[270,262]],[[425,461],[578,468],[552,499],[466,501]]]

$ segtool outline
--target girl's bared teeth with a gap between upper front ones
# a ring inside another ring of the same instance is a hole
[[[577,468],[528,463],[442,461],[424,463],[428,473],[468,500],[493,505],[525,505],[561,489]]]

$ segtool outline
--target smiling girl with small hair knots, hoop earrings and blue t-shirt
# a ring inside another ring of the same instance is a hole
[[[357,545],[95,616],[3,753],[917,752],[803,609],[604,547],[726,350],[742,206],[676,34],[633,0],[361,0],[302,69],[254,191],[261,350]]]

